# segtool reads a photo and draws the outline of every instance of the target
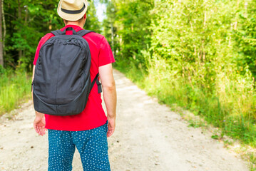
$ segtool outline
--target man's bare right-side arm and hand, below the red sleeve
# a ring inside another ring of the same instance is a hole
[[[108,133],[110,137],[116,127],[116,83],[113,78],[112,64],[98,68],[103,88],[103,98],[107,108]]]

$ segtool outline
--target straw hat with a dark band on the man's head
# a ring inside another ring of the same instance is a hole
[[[58,15],[67,21],[78,21],[86,14],[87,0],[60,0],[58,3]]]

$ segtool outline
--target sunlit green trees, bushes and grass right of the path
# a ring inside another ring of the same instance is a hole
[[[111,2],[117,68],[160,102],[256,146],[255,1]]]

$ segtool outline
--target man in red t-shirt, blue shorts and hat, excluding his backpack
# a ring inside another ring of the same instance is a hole
[[[86,23],[87,0],[61,0],[58,4],[58,15],[65,27],[80,31]],[[66,31],[66,34],[72,34]],[[48,33],[39,41],[34,58],[34,71],[39,51],[43,43],[53,37]],[[91,80],[99,73],[106,104],[107,116],[101,105],[101,94],[97,85],[93,86],[88,97],[86,108],[78,115],[56,116],[36,111],[34,129],[44,135],[48,129],[48,170],[72,170],[75,147],[81,155],[83,170],[110,170],[108,161],[108,142],[116,125],[116,85],[112,73],[115,62],[111,48],[104,36],[98,33],[87,33],[83,38],[91,51]]]

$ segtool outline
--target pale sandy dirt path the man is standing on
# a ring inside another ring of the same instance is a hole
[[[116,132],[108,138],[113,171],[249,170],[223,144],[188,128],[180,115],[159,105],[123,74],[114,71],[118,90]],[[47,135],[32,128],[34,109],[25,104],[14,120],[1,119],[0,170],[47,170]],[[82,170],[78,152],[73,170]]]

